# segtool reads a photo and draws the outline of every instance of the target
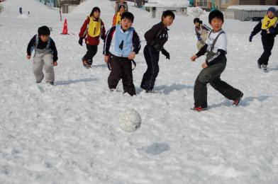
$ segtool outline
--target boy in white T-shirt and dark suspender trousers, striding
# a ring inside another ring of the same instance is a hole
[[[208,22],[213,30],[208,33],[206,44],[201,47],[201,50],[191,57],[191,61],[206,53],[206,62],[202,64],[203,69],[197,76],[194,85],[194,108],[192,110],[206,110],[207,108],[207,88],[206,84],[211,84],[219,93],[233,101],[233,105],[238,105],[243,93],[236,88],[233,88],[225,81],[220,79],[220,76],[226,68],[226,51],[227,37],[222,30],[224,22],[223,13],[215,10],[208,15]]]

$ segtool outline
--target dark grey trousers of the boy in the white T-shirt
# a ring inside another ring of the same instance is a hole
[[[230,100],[237,99],[241,91],[233,86],[230,86],[225,81],[221,81],[220,76],[221,73],[226,68],[226,60],[222,61],[218,64],[213,64],[211,67],[207,67],[206,69],[202,69],[200,74],[197,76],[194,85],[194,105],[195,107],[203,107],[206,108],[207,104],[207,88],[206,84],[211,84],[213,88],[215,88],[219,93]]]

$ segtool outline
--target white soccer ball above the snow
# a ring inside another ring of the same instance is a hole
[[[141,116],[134,110],[125,110],[118,118],[120,127],[125,132],[135,132],[141,125]]]

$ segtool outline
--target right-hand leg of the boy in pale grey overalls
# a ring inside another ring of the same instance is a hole
[[[53,83],[55,81],[53,57],[52,54],[48,53],[43,56],[43,62],[45,64],[45,82]]]

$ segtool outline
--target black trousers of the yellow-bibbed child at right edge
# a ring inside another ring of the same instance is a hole
[[[264,48],[264,52],[262,52],[261,57],[258,59],[258,64],[268,64],[273,45],[274,38],[262,35],[262,47]]]

